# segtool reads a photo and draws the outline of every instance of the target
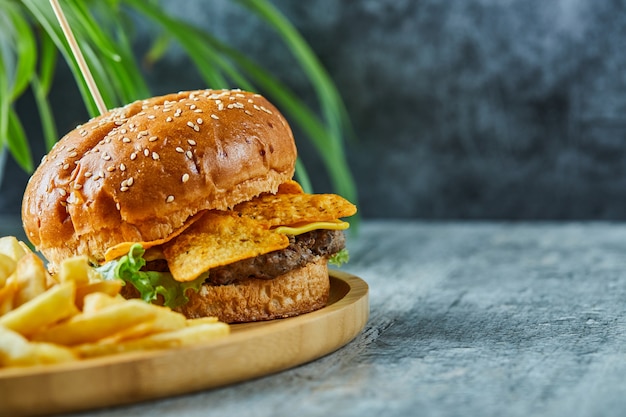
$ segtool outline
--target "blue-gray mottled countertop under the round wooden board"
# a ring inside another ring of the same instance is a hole
[[[343,269],[369,284],[370,319],[345,347],[78,416],[626,412],[626,224],[366,221],[349,248]]]

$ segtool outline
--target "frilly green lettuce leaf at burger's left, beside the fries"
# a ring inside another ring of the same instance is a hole
[[[178,282],[169,272],[142,271],[146,265],[143,258],[145,250],[140,244],[131,246],[127,255],[97,267],[96,270],[106,280],[121,280],[124,285],[131,284],[139,292],[141,299],[152,302],[160,294],[164,305],[178,307],[189,301],[188,289],[199,291],[205,277],[190,282]]]

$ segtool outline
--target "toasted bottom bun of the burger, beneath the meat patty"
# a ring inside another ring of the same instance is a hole
[[[203,285],[197,293],[189,291],[189,302],[176,311],[189,318],[215,316],[226,323],[272,320],[318,310],[329,293],[328,262],[320,258],[270,280]]]

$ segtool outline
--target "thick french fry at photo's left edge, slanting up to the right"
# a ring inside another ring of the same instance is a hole
[[[0,317],[0,326],[29,337],[45,326],[78,313],[74,305],[75,291],[73,282],[52,287]]]

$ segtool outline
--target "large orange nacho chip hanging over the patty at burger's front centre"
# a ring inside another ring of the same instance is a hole
[[[289,246],[289,238],[266,224],[225,211],[207,212],[176,239],[163,245],[170,272],[179,282],[242,259]]]

